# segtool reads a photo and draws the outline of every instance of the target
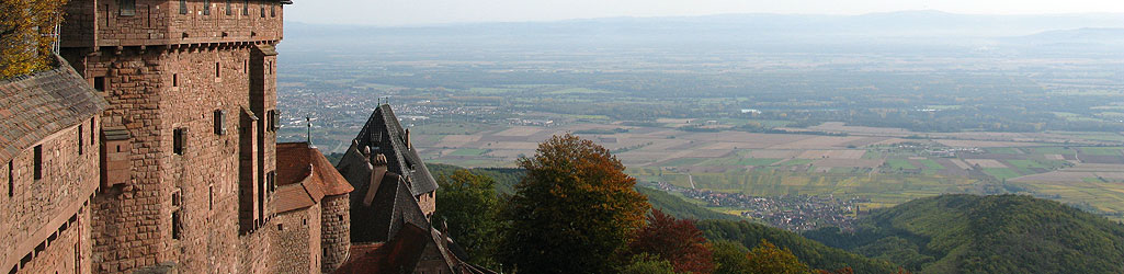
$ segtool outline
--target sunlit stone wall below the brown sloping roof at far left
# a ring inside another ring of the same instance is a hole
[[[100,182],[98,139],[90,136],[91,125],[98,122],[87,117],[0,164],[0,271],[19,264],[54,270],[49,262],[66,254],[71,258],[75,252],[89,254],[90,248],[75,250],[74,244],[90,241],[89,232],[79,231],[88,230],[84,208]],[[35,146],[42,147],[40,179],[35,179]]]

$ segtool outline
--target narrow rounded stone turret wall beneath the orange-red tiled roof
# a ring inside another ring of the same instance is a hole
[[[351,249],[351,199],[348,194],[324,197],[321,247],[324,273],[330,273],[347,261]]]

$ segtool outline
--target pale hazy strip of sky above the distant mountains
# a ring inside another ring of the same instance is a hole
[[[860,15],[899,10],[987,15],[1124,12],[1124,0],[293,0],[293,2],[292,6],[285,7],[285,20],[381,26],[753,12],[808,15]]]

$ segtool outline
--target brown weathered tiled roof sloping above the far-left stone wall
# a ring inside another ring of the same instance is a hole
[[[61,57],[58,67],[0,81],[0,162],[109,107]]]

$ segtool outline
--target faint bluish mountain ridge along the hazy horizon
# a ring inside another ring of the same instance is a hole
[[[420,51],[429,47],[447,49],[456,45],[452,48],[955,52],[995,46],[1021,47],[1019,44],[1008,45],[1019,42],[1008,38],[1044,31],[1124,28],[1121,18],[1124,13],[985,16],[922,10],[860,16],[749,13],[408,27],[290,22],[285,26],[285,43],[281,46],[305,51],[346,51],[347,47]],[[1064,40],[1059,40],[1063,38],[1055,36],[1050,44],[1063,44]],[[1112,47],[1097,49],[1113,51]]]

